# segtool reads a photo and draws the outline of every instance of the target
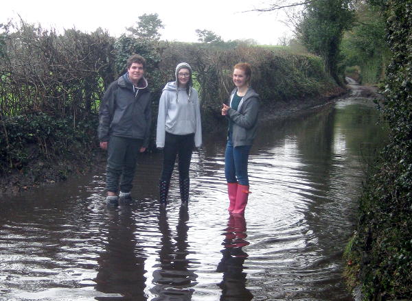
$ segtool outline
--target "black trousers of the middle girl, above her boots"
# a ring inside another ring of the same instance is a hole
[[[189,178],[190,160],[194,148],[194,133],[187,135],[174,135],[166,132],[165,147],[163,149],[162,181],[170,181],[174,169],[176,156],[179,157],[179,178]]]

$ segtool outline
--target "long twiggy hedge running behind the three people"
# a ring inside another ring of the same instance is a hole
[[[126,71],[128,56],[148,62],[146,77],[157,99],[174,79],[179,62],[189,62],[201,96],[203,128],[216,128],[220,107],[233,88],[233,65],[253,66],[253,86],[264,104],[316,96],[333,86],[316,56],[276,53],[262,47],[211,47],[166,43],[126,34],[113,38],[101,29],[90,34],[67,29],[56,34],[21,21],[1,25],[0,174],[22,171],[34,160],[87,161],[98,149],[98,106],[108,86]],[[7,29],[7,30],[5,30]],[[155,126],[152,126],[154,136]]]

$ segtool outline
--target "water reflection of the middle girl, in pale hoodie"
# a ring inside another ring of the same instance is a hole
[[[189,214],[187,206],[181,205],[179,210],[179,221],[176,227],[176,243],[172,242],[168,216],[165,208],[160,208],[159,230],[161,231],[161,250],[159,251],[159,264],[155,265],[157,269],[153,272],[153,283],[155,286],[150,289],[158,297],[157,300],[192,300],[194,285],[197,284],[196,277],[190,270],[190,260],[188,260],[187,248],[187,221]]]

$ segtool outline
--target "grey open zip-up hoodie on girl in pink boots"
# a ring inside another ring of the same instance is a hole
[[[233,95],[238,89],[234,88],[229,97],[229,106]],[[258,115],[260,108],[260,97],[253,88],[248,88],[247,93],[242,97],[238,110],[229,108],[227,118],[233,121],[233,132],[231,141],[234,147],[241,145],[252,145],[257,134]]]

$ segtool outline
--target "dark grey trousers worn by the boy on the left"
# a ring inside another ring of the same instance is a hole
[[[137,156],[140,153],[142,139],[111,136],[107,147],[106,189],[117,193],[132,190],[135,177]],[[120,185],[119,185],[120,182]]]

